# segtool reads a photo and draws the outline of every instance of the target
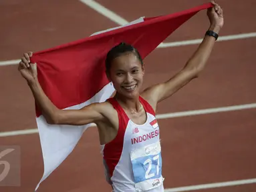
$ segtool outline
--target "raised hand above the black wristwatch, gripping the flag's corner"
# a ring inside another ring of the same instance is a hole
[[[213,3],[214,7],[207,10],[207,16],[211,23],[210,30],[215,30],[216,33],[219,33],[219,30],[224,25],[223,9],[215,1],[211,1],[211,3]]]

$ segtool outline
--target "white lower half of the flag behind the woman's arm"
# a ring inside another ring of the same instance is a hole
[[[113,85],[108,83],[108,85],[90,100],[66,109],[81,109],[91,103],[104,102],[106,99],[110,98],[114,91],[115,89]],[[84,126],[49,125],[45,121],[43,115],[37,117],[36,121],[43,153],[44,172],[35,191],[38,189],[40,183],[45,180],[68,157],[68,155],[70,155],[84,131],[90,127],[90,124]]]

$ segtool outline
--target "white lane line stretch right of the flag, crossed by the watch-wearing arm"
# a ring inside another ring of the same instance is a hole
[[[243,33],[238,35],[226,35],[223,37],[219,37],[217,41],[230,41],[230,40],[236,40],[236,39],[247,39],[247,38],[253,38],[256,37],[256,33]],[[158,45],[158,48],[166,48],[166,47],[179,47],[184,45],[197,45],[200,44],[203,41],[203,39],[193,39],[188,41],[177,41],[177,42],[171,42],[171,43],[162,43]]]

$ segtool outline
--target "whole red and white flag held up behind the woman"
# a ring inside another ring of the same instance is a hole
[[[105,74],[106,54],[121,42],[136,47],[142,59],[180,25],[211,3],[160,17],[144,18],[121,27],[100,31],[66,45],[33,53],[43,91],[59,109],[80,109],[104,102],[114,93]],[[73,151],[90,125],[49,125],[36,107],[36,121],[43,153],[45,180]],[[153,125],[155,126],[155,124]]]

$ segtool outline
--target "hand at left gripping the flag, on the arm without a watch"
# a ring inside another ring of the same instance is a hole
[[[22,77],[31,83],[37,80],[37,65],[36,63],[30,63],[30,57],[32,57],[32,52],[23,53],[21,57],[21,62],[19,62],[18,70],[21,72]]]

